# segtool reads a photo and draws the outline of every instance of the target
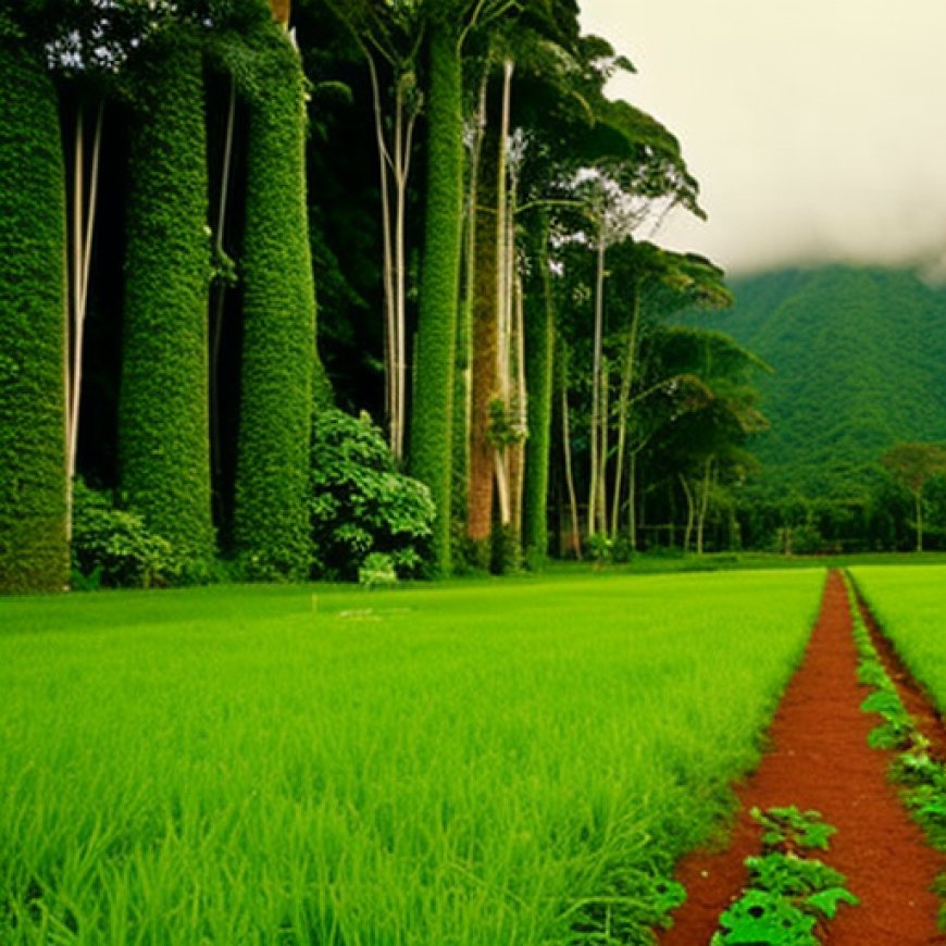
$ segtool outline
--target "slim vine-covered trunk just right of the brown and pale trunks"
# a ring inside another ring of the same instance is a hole
[[[522,542],[526,552],[539,559],[548,552],[548,472],[555,352],[555,301],[548,264],[548,216],[543,214],[534,241],[535,290],[527,297],[530,309],[525,320],[528,438],[525,441]]]

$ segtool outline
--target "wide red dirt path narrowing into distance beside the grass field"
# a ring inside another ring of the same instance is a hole
[[[857,654],[844,583],[831,572],[805,660],[769,732],[771,751],[739,788],[742,811],[730,847],[695,852],[677,869],[687,901],[661,934],[662,946],[704,946],[720,914],[747,881],[746,857],[758,854],[749,810],[795,805],[835,825],[831,866],[847,877],[860,906],[831,921],[833,946],[946,944],[930,887],[943,869],[887,781],[888,752],[868,746],[876,717],[860,710],[868,690],[856,680]],[[911,710],[913,707],[911,706]]]

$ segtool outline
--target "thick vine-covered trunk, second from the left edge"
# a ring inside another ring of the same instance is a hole
[[[132,134],[119,400],[122,490],[183,560],[213,555],[210,236],[203,63],[169,30],[145,51]]]

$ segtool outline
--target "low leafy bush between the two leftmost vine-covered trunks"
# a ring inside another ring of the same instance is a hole
[[[107,493],[76,481],[73,498],[73,585],[153,588],[173,583],[181,561],[144,516],[117,508]]]

